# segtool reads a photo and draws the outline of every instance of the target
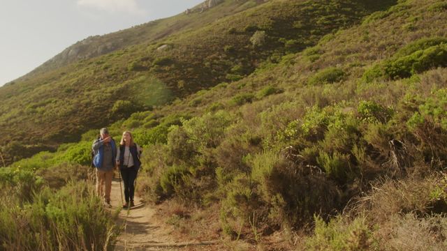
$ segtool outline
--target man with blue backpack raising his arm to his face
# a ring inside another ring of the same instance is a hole
[[[110,190],[112,189],[112,177],[115,167],[117,146],[115,140],[109,135],[107,128],[99,130],[100,137],[95,139],[91,148],[95,152],[93,164],[96,167],[96,192],[104,198],[106,206],[110,205]],[[105,190],[103,186],[105,185]]]

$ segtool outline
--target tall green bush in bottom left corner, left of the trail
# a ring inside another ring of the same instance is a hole
[[[1,197],[0,245],[4,250],[103,250],[117,236],[115,222],[91,184],[71,183],[32,202]]]

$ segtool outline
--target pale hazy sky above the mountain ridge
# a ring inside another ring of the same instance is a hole
[[[204,0],[1,0],[0,86],[93,35],[170,17]]]

